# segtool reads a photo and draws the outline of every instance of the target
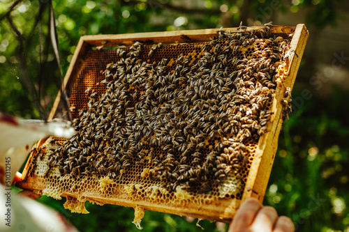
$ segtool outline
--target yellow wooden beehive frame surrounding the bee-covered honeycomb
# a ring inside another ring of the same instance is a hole
[[[224,29],[225,31],[231,31],[231,33],[243,31],[252,31],[262,29],[263,27],[247,27],[246,29],[231,28]],[[235,211],[239,208],[239,205],[244,199],[248,197],[254,197],[262,202],[269,175],[272,170],[272,164],[277,149],[277,142],[279,138],[279,132],[282,125],[281,111],[283,108],[282,100],[286,88],[292,89],[299,68],[304,47],[306,45],[306,39],[308,37],[308,31],[304,24],[299,24],[296,27],[288,26],[272,26],[270,32],[275,36],[282,36],[288,38],[292,35],[290,41],[290,52],[288,54],[286,64],[286,77],[283,85],[277,86],[274,101],[272,102],[271,111],[274,112],[268,125],[268,132],[262,134],[258,141],[258,148],[255,152],[253,162],[251,164],[250,171],[246,179],[244,192],[241,199],[221,199],[219,202],[209,202],[198,205],[197,203],[187,201],[186,203],[149,203],[147,201],[131,201],[127,194],[124,194],[115,199],[103,198],[98,195],[84,196],[84,200],[89,200],[96,203],[112,203],[121,206],[128,206],[135,208],[136,212],[139,209],[144,210],[156,210],[160,212],[168,212],[176,215],[186,215],[195,218],[209,219],[211,221],[230,222]],[[214,36],[217,36],[217,29],[205,29],[194,31],[167,31],[167,32],[154,32],[154,33],[133,33],[124,35],[100,35],[100,36],[82,36],[73,55],[73,59],[70,63],[66,77],[64,79],[64,86],[69,94],[72,93],[73,86],[77,77],[80,75],[80,71],[84,66],[87,52],[96,47],[117,47],[120,45],[130,46],[135,41],[147,43],[151,41],[151,44],[157,44],[158,42],[167,44],[181,44],[192,42],[207,42]],[[70,96],[69,96],[70,97]],[[52,108],[50,118],[54,118],[61,112],[60,95]],[[43,143],[44,141],[41,141]],[[32,156],[32,155],[31,155]],[[29,160],[31,157],[29,157]],[[29,176],[30,167],[29,162],[23,172],[23,182],[18,186],[29,189],[40,190],[45,189],[45,184],[40,180]],[[69,199],[79,199],[77,194],[72,192],[64,192],[61,196],[66,196]],[[142,210],[140,210],[142,211]]]

